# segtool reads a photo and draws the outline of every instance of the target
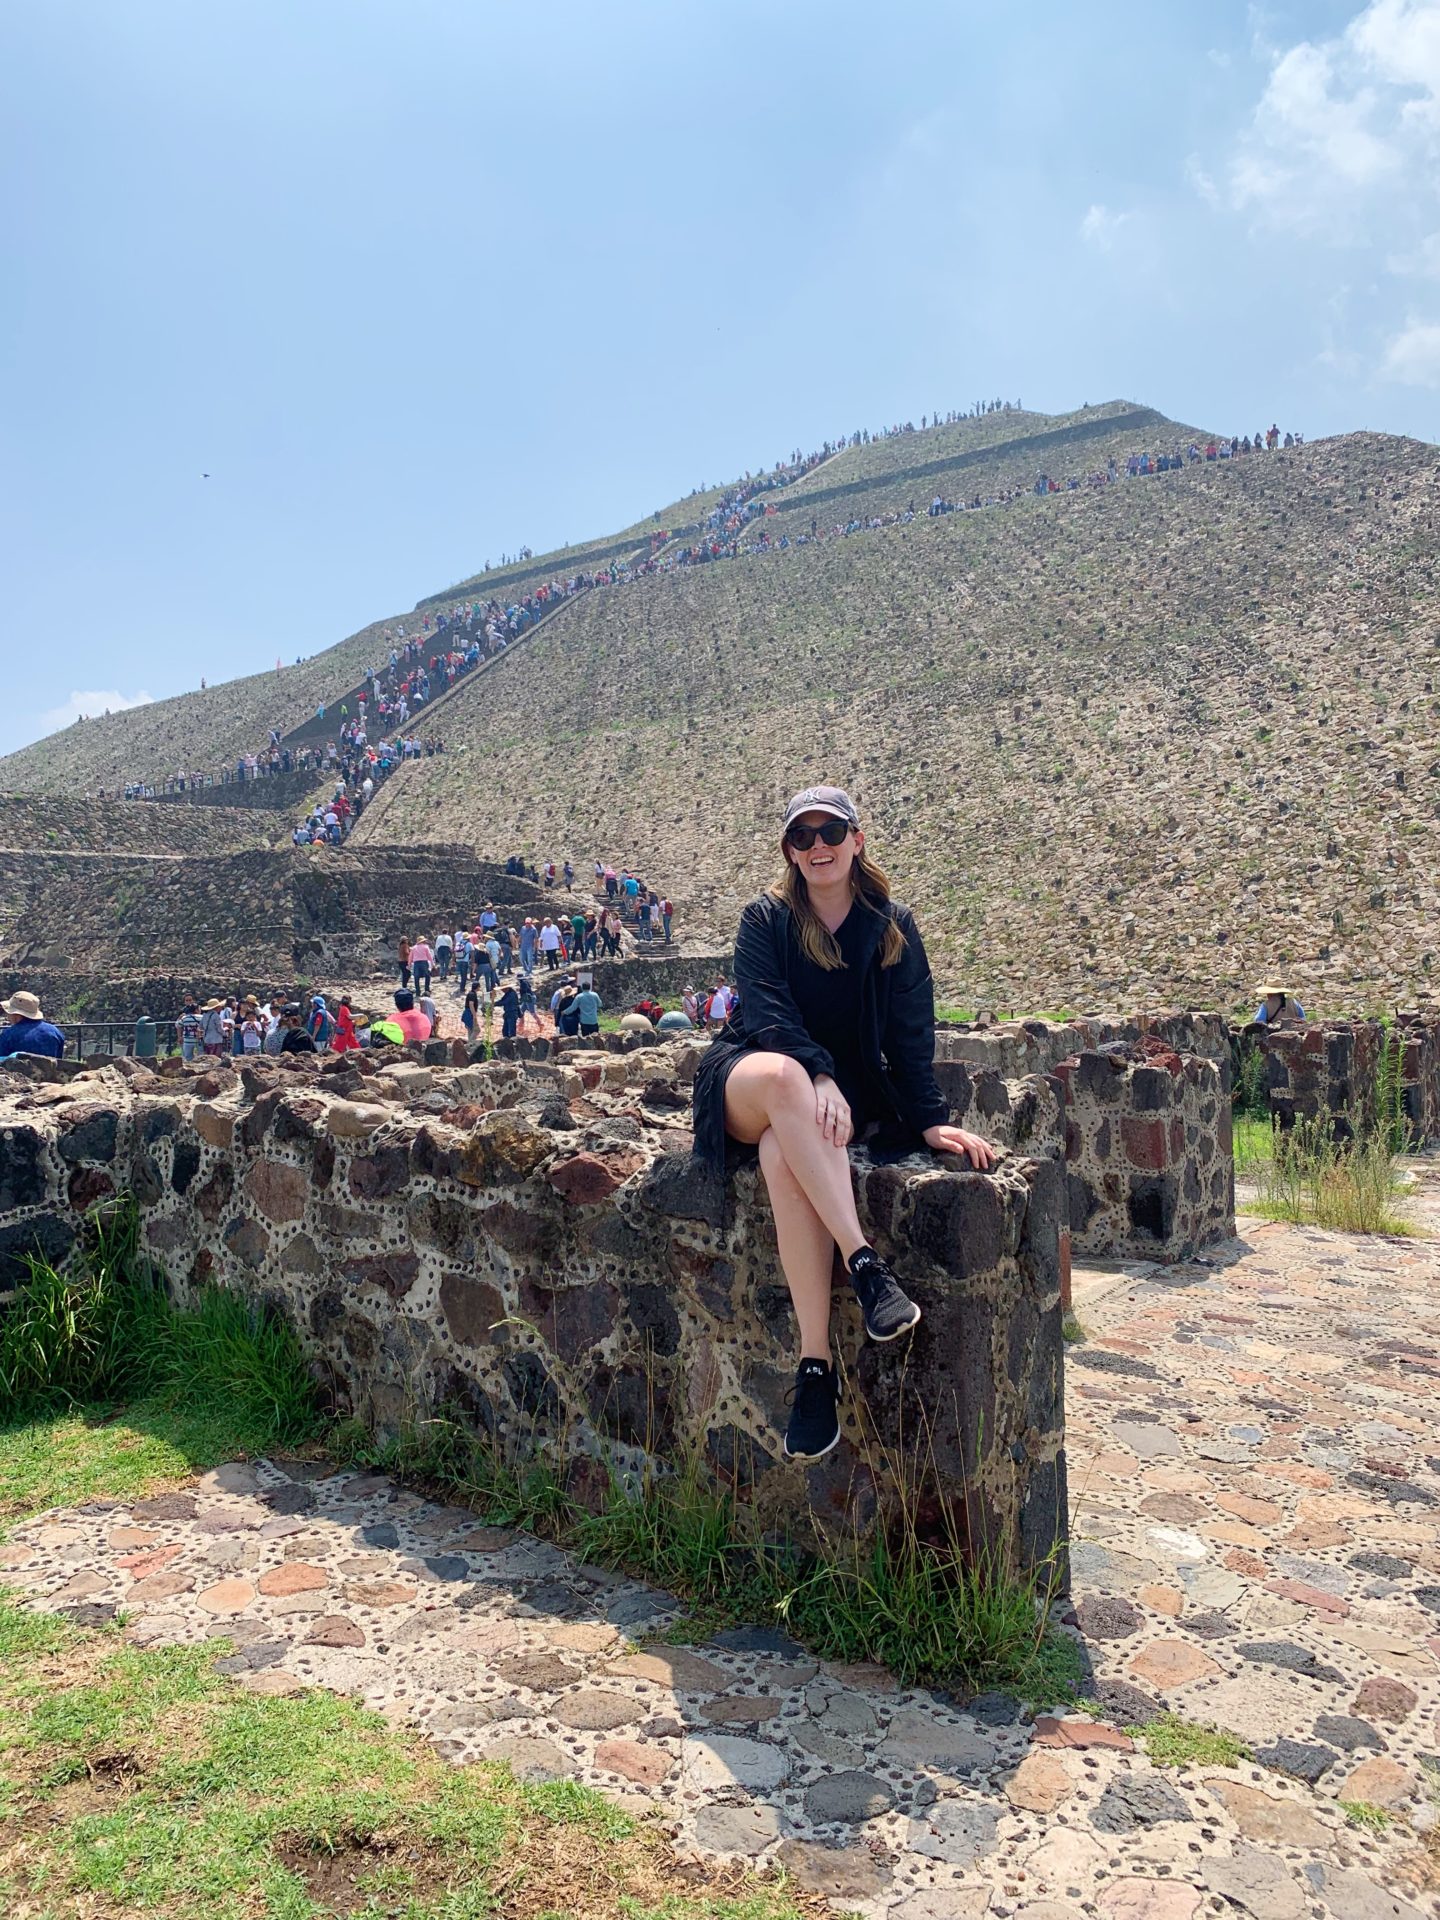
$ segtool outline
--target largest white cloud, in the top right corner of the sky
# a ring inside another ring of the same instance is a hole
[[[1377,211],[1436,200],[1438,138],[1440,0],[1371,0],[1334,38],[1273,54],[1229,198],[1275,227],[1356,240]]]

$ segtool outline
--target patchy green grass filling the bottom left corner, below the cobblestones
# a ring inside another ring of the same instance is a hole
[[[136,1649],[0,1597],[0,1907],[15,1920],[799,1920],[783,1882],[685,1897],[570,1780],[447,1766],[353,1701],[242,1693],[227,1642]]]

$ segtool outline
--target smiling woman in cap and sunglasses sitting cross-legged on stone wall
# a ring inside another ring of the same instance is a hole
[[[722,1175],[726,1139],[758,1150],[801,1346],[783,1452],[810,1461],[839,1442],[829,1356],[835,1248],[872,1340],[895,1340],[920,1319],[860,1231],[851,1140],[866,1140],[876,1160],[922,1142],[977,1167],[995,1156],[948,1123],[935,1085],[925,948],[864,851],[851,797],[824,785],[797,793],[780,851],[783,877],[741,914],[741,1004],[695,1073],[695,1154]]]

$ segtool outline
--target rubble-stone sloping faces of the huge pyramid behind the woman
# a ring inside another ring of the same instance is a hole
[[[829,778],[954,1004],[1240,1006],[1273,975],[1325,1012],[1423,998],[1440,455],[1350,434],[1125,476],[1190,436],[1112,403],[845,447],[766,495],[751,551],[576,595],[461,680],[426,716],[447,755],[394,774],[357,851],[634,852],[724,939],[776,872],[783,799]],[[1119,478],[1091,484],[1112,459]],[[1037,495],[1037,470],[1081,484]],[[935,493],[1016,497],[929,518]],[[653,522],[674,547],[716,497]],[[422,607],[651,551],[641,520]],[[353,685],[380,632],[294,682],[69,728],[0,760],[0,787],[113,789],[253,751]]]

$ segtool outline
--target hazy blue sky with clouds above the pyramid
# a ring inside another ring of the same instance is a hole
[[[979,394],[1436,440],[1438,146],[1440,0],[12,4],[0,751]]]

